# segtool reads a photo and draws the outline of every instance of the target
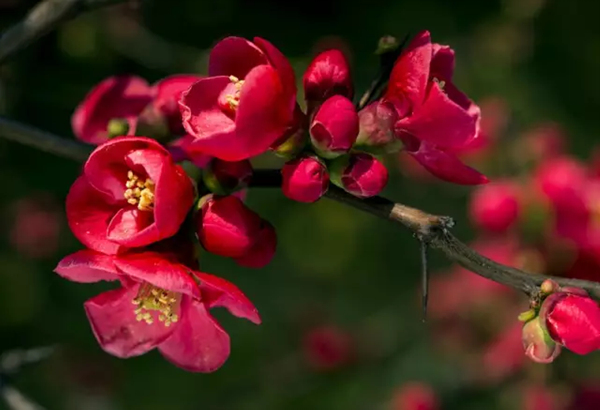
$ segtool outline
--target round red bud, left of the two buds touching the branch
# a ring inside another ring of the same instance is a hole
[[[316,157],[288,162],[281,170],[283,194],[293,201],[315,202],[329,187],[327,167]]]

